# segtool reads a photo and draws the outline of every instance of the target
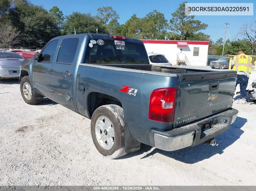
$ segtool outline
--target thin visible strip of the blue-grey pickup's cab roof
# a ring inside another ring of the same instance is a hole
[[[59,37],[89,37],[92,39],[106,39],[106,40],[120,40],[120,39],[114,39],[110,37],[110,34],[96,34],[96,33],[83,33],[83,34],[71,34],[71,35],[64,35],[64,36],[59,36]],[[55,37],[56,39],[59,37]],[[53,39],[55,39],[53,38]],[[135,38],[129,38],[126,37],[125,41],[133,42],[133,43],[142,43],[141,40],[135,39]]]

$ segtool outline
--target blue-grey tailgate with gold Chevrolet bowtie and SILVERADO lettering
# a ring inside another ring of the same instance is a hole
[[[236,72],[177,74],[174,126],[184,125],[232,107]]]

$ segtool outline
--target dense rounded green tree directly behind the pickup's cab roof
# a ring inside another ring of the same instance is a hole
[[[96,33],[97,27],[98,33],[107,33],[106,26],[96,20],[90,13],[73,12],[66,16],[66,20],[63,24],[63,32],[65,34],[74,34],[75,28],[77,34]]]

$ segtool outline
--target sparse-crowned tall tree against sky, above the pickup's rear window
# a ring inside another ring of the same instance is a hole
[[[100,7],[97,9],[96,19],[107,25],[113,20],[118,20],[119,15],[112,7]]]

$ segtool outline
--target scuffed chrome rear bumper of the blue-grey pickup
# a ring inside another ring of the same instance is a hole
[[[238,110],[230,109],[196,123],[172,129],[168,132],[151,130],[154,134],[154,145],[164,151],[175,151],[181,148],[198,145],[226,131],[237,118]],[[211,123],[210,129],[202,130],[200,125]]]

